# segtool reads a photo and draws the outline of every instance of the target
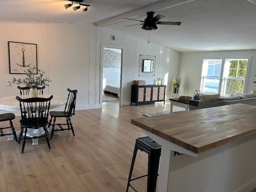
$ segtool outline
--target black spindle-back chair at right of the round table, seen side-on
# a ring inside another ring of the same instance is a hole
[[[66,102],[66,106],[64,111],[50,111],[50,122],[48,124],[48,128],[52,125],[52,132],[51,132],[51,139],[53,136],[54,131],[64,131],[64,130],[72,130],[73,136],[75,136],[74,129],[70,120],[70,117],[75,114],[75,108],[76,108],[76,94],[77,90],[68,90],[68,99]],[[67,123],[58,123],[56,124],[56,118],[66,118]],[[53,124],[52,123],[52,118],[53,118]],[[59,126],[59,129],[54,129],[55,125]],[[68,128],[63,128],[62,125],[66,125]]]

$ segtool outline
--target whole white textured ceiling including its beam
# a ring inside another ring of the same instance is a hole
[[[88,11],[65,10],[67,0],[1,0],[0,22],[78,22],[108,26],[139,38],[148,31],[133,20],[144,20],[147,11],[180,21],[180,26],[158,25],[150,42],[181,52],[256,49],[256,4],[247,0],[88,0]],[[75,3],[75,2],[74,2]],[[156,15],[155,14],[155,15]],[[112,24],[114,23],[114,24]]]

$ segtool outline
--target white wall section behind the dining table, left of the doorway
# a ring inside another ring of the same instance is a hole
[[[97,108],[96,26],[93,24],[1,23],[0,97],[18,95],[17,85],[6,87],[9,74],[8,41],[37,44],[38,68],[52,82],[45,94],[67,97],[67,88],[78,89],[76,109]],[[99,87],[99,85],[98,85]]]

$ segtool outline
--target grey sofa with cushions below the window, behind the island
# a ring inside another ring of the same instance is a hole
[[[190,100],[188,102],[189,110],[217,107],[231,104],[248,104],[256,106],[256,94],[235,93],[229,97],[220,97],[220,94],[202,95],[201,100]]]

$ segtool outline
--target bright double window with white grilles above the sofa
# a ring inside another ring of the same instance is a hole
[[[229,96],[244,92],[248,59],[204,59],[201,90]]]

